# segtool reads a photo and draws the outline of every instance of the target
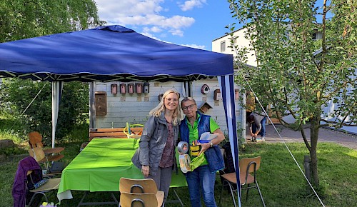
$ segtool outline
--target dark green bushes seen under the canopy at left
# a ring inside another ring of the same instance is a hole
[[[51,83],[5,79],[0,91],[0,112],[16,117],[20,134],[39,131],[51,137]],[[59,104],[56,138],[66,136],[89,117],[89,86],[74,81],[64,84]]]

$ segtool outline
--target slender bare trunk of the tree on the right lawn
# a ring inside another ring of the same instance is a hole
[[[318,180],[318,170],[317,170],[317,154],[316,148],[318,143],[318,131],[320,124],[320,117],[316,116],[310,119],[311,121],[311,150],[310,150],[310,158],[311,158],[311,172],[313,178],[313,184],[318,188],[319,180]]]

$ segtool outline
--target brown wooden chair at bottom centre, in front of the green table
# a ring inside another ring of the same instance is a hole
[[[131,178],[120,178],[119,181],[119,191],[120,195],[120,203],[119,206],[126,207],[130,201],[130,205],[135,197],[135,194],[153,194],[155,196],[155,201],[153,206],[161,206],[164,201],[164,191],[158,191],[156,183],[153,179],[131,179]],[[122,198],[123,197],[123,198]],[[152,196],[143,196],[143,197],[152,197]],[[124,199],[124,200],[122,200]],[[147,198],[153,199],[153,198]],[[125,203],[122,203],[125,202]],[[149,200],[150,201],[150,200]],[[133,204],[137,205],[134,202]],[[151,203],[151,202],[150,202]],[[129,206],[130,206],[129,205]],[[145,206],[149,204],[146,202]]]

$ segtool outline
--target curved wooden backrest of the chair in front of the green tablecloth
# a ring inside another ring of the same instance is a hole
[[[157,193],[157,186],[153,179],[120,178],[119,191],[126,193]]]

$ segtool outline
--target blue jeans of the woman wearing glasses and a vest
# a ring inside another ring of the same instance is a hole
[[[214,200],[216,173],[211,173],[208,165],[199,166],[193,172],[186,173],[186,181],[190,193],[191,206],[201,207],[201,193],[205,206],[217,206]]]

